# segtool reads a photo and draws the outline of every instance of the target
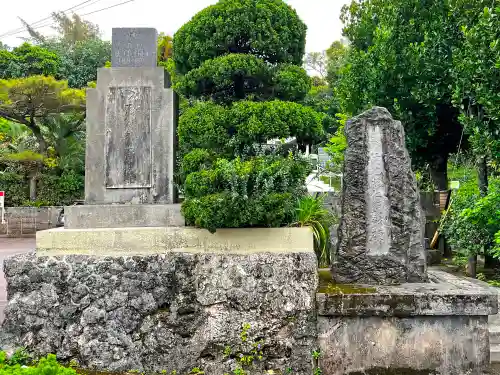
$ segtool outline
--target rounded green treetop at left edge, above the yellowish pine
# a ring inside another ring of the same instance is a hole
[[[60,63],[57,54],[40,46],[23,43],[12,52],[0,51],[0,78],[57,76]]]

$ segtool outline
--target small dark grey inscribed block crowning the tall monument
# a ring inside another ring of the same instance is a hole
[[[155,67],[157,38],[157,31],[152,28],[114,28],[111,66]]]

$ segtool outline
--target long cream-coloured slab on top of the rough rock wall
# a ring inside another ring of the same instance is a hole
[[[309,228],[57,228],[37,233],[38,255],[249,254],[314,251]]]

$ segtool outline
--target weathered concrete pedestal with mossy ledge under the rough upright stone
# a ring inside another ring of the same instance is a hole
[[[428,276],[429,283],[369,286],[326,285],[322,275],[316,304],[323,374],[482,375],[497,293],[443,271]]]

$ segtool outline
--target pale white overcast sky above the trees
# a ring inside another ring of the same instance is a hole
[[[128,1],[128,2],[126,2]],[[69,8],[87,21],[96,23],[104,39],[111,39],[113,27],[155,27],[158,32],[173,35],[191,17],[217,0],[21,0],[2,4],[0,41],[15,47],[27,37],[22,29],[22,17],[30,24],[43,20],[34,27],[43,35],[53,34],[51,19],[53,11]],[[125,3],[126,2],[126,3]],[[291,5],[308,27],[307,52],[319,52],[341,37],[340,9],[347,0],[285,0]],[[120,4],[121,5],[117,5]],[[79,5],[80,4],[80,5]],[[117,6],[114,6],[117,5]],[[76,7],[75,7],[76,6]],[[114,6],[114,7],[113,7]],[[102,10],[108,8],[107,10]],[[95,12],[95,13],[92,13]],[[70,13],[70,12],[68,12]],[[86,13],[92,13],[85,15]],[[11,32],[9,35],[6,33]]]

